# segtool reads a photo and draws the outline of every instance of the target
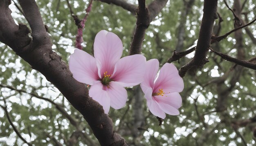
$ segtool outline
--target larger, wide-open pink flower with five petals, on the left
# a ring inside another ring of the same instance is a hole
[[[94,40],[94,57],[76,49],[70,55],[70,71],[82,83],[92,85],[89,95],[108,113],[110,106],[124,107],[127,91],[124,87],[141,83],[146,69],[143,55],[121,58],[123,44],[115,33],[100,31]],[[121,58],[121,59],[120,59]]]

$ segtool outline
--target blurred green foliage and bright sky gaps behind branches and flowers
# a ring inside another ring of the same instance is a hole
[[[153,0],[147,0],[150,4]],[[178,28],[184,19],[184,2],[189,0],[169,0],[166,7],[150,23],[146,31],[142,53],[150,60],[157,58],[161,65],[167,62],[177,46]],[[256,0],[245,0],[242,19],[247,22],[254,19]],[[14,0],[18,4],[16,0]],[[69,56],[74,51],[77,27],[73,21],[66,0],[36,0],[45,25],[52,38],[52,49],[68,64]],[[137,4],[136,0],[128,0]],[[227,1],[233,7],[234,1]],[[241,0],[243,4],[244,0]],[[70,1],[73,11],[80,19],[85,15],[88,0]],[[9,6],[16,23],[27,24],[24,16],[15,5]],[[185,15],[184,41],[180,51],[193,46],[197,39],[202,20],[203,0],[195,0],[191,11]],[[234,29],[234,16],[227,9],[223,0],[218,0],[218,13],[221,23],[220,35]],[[215,26],[218,26],[216,20]],[[116,33],[124,44],[123,56],[128,55],[130,42],[135,29],[136,17],[132,13],[114,4],[94,1],[92,11],[83,31],[83,50],[93,54],[92,46],[95,35],[100,30]],[[256,38],[256,24],[248,27]],[[255,57],[256,44],[243,29],[245,60]],[[234,33],[213,49],[232,57],[237,56]],[[22,145],[13,125],[27,142],[41,145],[99,145],[90,127],[65,97],[48,82],[43,75],[31,68],[27,62],[16,55],[9,47],[0,43],[0,145]],[[173,62],[179,69],[189,62],[193,53]],[[180,115],[167,115],[162,126],[152,115],[146,101],[142,101],[142,124],[136,126],[135,98],[144,96],[137,86],[127,88],[128,101],[120,110],[110,109],[114,129],[131,145],[170,146],[170,145],[205,145],[205,146],[248,146],[255,144],[253,129],[256,126],[256,72],[252,69],[240,70],[240,77],[231,83],[234,77],[234,64],[221,59],[212,52],[208,53],[208,62],[200,70],[191,71],[183,78],[185,88],[182,95]],[[223,82],[216,80],[224,78]],[[234,84],[234,86],[233,86]],[[218,98],[223,98],[220,89],[225,89],[225,102],[218,105]],[[47,100],[48,99],[48,100]],[[4,112],[6,106],[7,113]],[[223,106],[224,110],[218,110]],[[61,110],[64,110],[61,112]],[[253,121],[254,119],[254,121]],[[74,120],[72,123],[71,121]],[[248,122],[249,120],[249,122]],[[141,121],[140,121],[141,122]],[[239,124],[247,122],[247,124]],[[72,136],[80,132],[77,141]],[[73,142],[73,143],[72,143]],[[27,144],[24,144],[27,145]]]

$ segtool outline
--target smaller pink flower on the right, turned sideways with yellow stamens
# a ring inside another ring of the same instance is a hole
[[[158,69],[159,62],[157,59],[148,60],[144,81],[140,86],[145,93],[149,111],[164,119],[165,113],[169,115],[180,114],[177,110],[182,104],[179,92],[183,90],[184,83],[173,64],[164,64],[157,77]]]

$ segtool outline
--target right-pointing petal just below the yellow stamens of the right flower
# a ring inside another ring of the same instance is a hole
[[[176,109],[180,108],[182,104],[182,98],[179,93],[173,92],[169,94],[164,94],[164,96],[154,96],[157,98],[157,102],[163,102],[165,104],[169,104],[170,106],[175,107]]]

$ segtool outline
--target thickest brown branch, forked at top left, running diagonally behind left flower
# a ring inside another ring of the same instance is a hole
[[[102,106],[88,96],[88,89],[72,77],[61,57],[52,51],[52,42],[46,33],[36,2],[20,0],[32,30],[33,41],[28,37],[27,27],[15,24],[9,4],[10,0],[0,1],[0,41],[10,46],[61,91],[83,115],[101,145],[127,145],[120,135],[113,132],[112,120],[104,113]]]

